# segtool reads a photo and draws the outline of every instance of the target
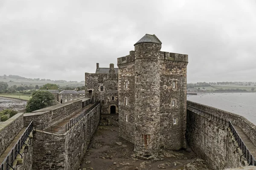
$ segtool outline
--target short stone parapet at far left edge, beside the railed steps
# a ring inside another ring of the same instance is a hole
[[[0,155],[3,154],[23,127],[23,113],[17,113],[0,124]]]

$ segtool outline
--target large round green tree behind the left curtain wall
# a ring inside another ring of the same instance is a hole
[[[34,91],[31,99],[27,102],[26,112],[46,108],[48,106],[48,102],[53,99],[54,96],[49,91]]]

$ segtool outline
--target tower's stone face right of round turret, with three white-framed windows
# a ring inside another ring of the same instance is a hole
[[[187,63],[160,61],[160,147],[179,150],[186,148]]]

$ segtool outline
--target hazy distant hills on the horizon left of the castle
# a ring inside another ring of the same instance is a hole
[[[84,81],[67,81],[67,80],[51,80],[40,78],[26,78],[18,75],[3,75],[0,76],[0,82],[7,82],[9,86],[12,85],[44,85],[47,83],[57,84],[60,86],[81,86],[84,85]]]

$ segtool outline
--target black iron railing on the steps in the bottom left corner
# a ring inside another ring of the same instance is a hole
[[[20,150],[22,149],[23,145],[26,145],[25,152],[28,151],[28,145],[26,144],[26,140],[29,138],[29,144],[31,144],[31,139],[29,137],[30,132],[33,130],[33,121],[30,122],[29,126],[26,128],[24,133],[20,136],[20,139],[17,141],[15,146],[12,148],[12,150],[9,152],[9,154],[6,156],[6,159],[2,162],[0,165],[0,170],[15,170],[13,168],[13,163],[18,155],[20,155],[22,159],[22,153],[20,153]]]

